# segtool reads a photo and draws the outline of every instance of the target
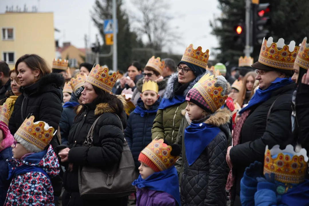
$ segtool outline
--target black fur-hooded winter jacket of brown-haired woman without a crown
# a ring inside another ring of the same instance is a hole
[[[14,136],[23,121],[34,116],[35,121],[44,121],[58,129],[62,112],[62,90],[64,82],[61,74],[46,74],[39,81],[27,87],[20,87],[22,93],[15,101],[14,111],[9,120],[9,129]],[[23,105],[23,108],[22,108]],[[23,113],[23,114],[22,114]],[[56,135],[50,144],[55,148],[58,143]]]

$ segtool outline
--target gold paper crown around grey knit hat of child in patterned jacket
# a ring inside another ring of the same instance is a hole
[[[39,149],[44,150],[54,136],[54,128],[45,129],[45,122],[38,121],[34,123],[33,121],[34,116],[30,116],[23,121],[16,134]]]

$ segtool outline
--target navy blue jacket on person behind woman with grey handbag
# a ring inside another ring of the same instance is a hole
[[[75,117],[74,107],[78,105],[76,96],[72,93],[69,102],[64,103],[61,118],[59,122],[61,145],[66,145],[70,133],[71,126]]]

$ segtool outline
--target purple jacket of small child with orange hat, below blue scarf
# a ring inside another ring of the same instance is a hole
[[[166,192],[137,188],[136,206],[177,206],[178,203],[173,196]]]

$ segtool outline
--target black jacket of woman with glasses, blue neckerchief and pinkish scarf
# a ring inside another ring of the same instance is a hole
[[[264,162],[266,145],[269,148],[280,145],[284,149],[292,143],[291,103],[294,88],[295,83],[291,83],[274,91],[266,102],[252,108],[251,114],[243,123],[240,144],[230,150],[235,175],[232,194],[239,196],[240,180],[246,167],[254,161]],[[267,117],[274,101],[276,102]],[[240,203],[235,202],[235,205]]]

